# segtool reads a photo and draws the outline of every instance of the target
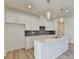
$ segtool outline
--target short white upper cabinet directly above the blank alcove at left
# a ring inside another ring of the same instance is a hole
[[[26,15],[16,12],[16,11],[7,11],[6,12],[6,22],[9,23],[22,23],[25,24]]]

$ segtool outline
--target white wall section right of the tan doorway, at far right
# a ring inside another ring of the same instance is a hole
[[[65,19],[65,35],[69,36],[70,43],[74,43],[74,17]]]

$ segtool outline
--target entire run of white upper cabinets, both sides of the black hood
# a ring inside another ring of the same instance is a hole
[[[15,10],[6,11],[6,22],[25,24],[26,30],[39,30],[39,26],[45,26],[46,30],[53,30],[53,22],[48,21],[45,17],[34,16]]]

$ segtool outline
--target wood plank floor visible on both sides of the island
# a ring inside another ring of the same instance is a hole
[[[18,49],[15,51],[8,52],[5,59],[35,59],[34,49]],[[66,51],[56,59],[74,59],[74,47],[70,46],[68,51]]]

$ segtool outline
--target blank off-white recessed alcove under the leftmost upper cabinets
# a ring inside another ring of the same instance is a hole
[[[24,24],[7,23],[5,30],[6,51],[25,48]]]

